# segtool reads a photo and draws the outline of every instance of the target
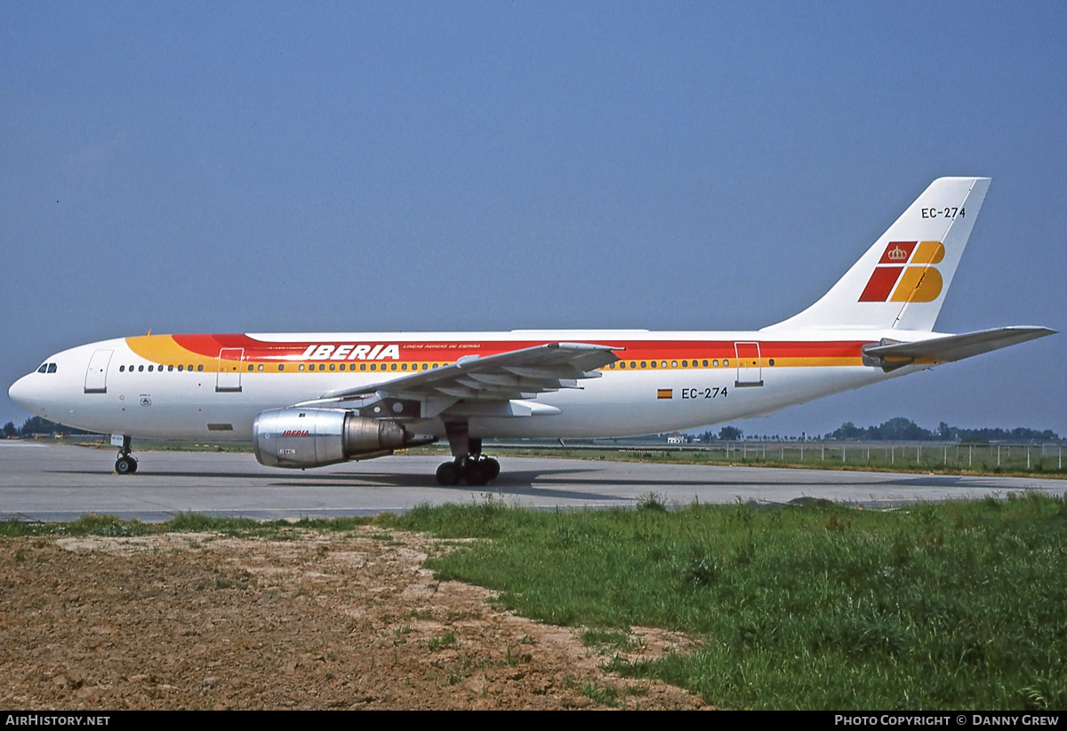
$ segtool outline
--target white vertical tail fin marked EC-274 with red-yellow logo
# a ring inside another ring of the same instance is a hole
[[[784,327],[933,330],[989,178],[938,178],[822,299]]]

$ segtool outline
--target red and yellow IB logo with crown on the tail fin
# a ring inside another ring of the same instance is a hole
[[[875,266],[860,302],[934,302],[941,294],[944,259],[940,241],[891,241]]]

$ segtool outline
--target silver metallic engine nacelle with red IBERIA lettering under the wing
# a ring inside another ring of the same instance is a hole
[[[303,469],[389,454],[409,435],[396,422],[343,409],[281,408],[256,417],[252,439],[259,464]]]

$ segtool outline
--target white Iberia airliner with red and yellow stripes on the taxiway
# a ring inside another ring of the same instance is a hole
[[[1034,340],[1012,326],[934,325],[989,188],[939,178],[817,302],[754,331],[511,330],[144,335],[49,356],[9,394],[118,448],[136,438],[252,440],[305,469],[446,439],[441,485],[484,485],[490,438],[601,438],[692,428]]]

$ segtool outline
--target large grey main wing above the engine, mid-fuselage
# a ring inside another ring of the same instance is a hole
[[[365,408],[361,408],[360,403],[354,405],[362,413],[365,409],[372,409],[372,404],[385,402],[384,412],[371,410],[367,416],[402,419],[416,416],[430,418],[463,401],[482,402],[480,406],[476,404],[463,410],[472,412],[472,416],[493,416],[496,411],[499,411],[496,416],[530,416],[538,410],[535,405],[504,407],[509,402],[534,399],[539,393],[580,388],[578,380],[601,377],[596,369],[619,360],[612,351],[621,350],[590,343],[547,343],[484,357],[469,355],[432,371],[330,391],[319,399],[297,405],[329,406],[360,402]],[[496,402],[495,406],[492,402]],[[417,415],[414,412],[416,408]],[[544,408],[558,413],[558,409],[553,407]]]

